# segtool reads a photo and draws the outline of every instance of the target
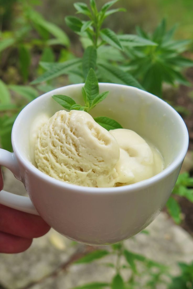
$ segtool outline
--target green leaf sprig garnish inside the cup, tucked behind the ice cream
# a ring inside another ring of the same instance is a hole
[[[107,97],[108,93],[109,91],[99,93],[98,79],[93,68],[90,68],[84,87],[82,87],[84,105],[76,103],[76,101],[67,95],[53,95],[52,98],[67,110],[83,110],[89,112],[98,103],[103,101]],[[110,129],[122,128],[117,121],[106,116],[99,116],[94,118],[94,120],[108,131]]]

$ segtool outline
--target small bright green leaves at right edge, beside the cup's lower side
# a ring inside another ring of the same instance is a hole
[[[180,224],[182,221],[182,212],[175,195],[185,197],[193,203],[193,178],[190,177],[188,172],[179,175],[172,191],[172,195],[166,204],[171,217],[177,224]]]

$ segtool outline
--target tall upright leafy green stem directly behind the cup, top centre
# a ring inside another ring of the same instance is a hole
[[[82,41],[84,48],[82,58],[74,58],[63,63],[40,62],[40,65],[47,71],[32,81],[32,84],[48,81],[60,75],[68,75],[72,82],[82,83],[85,81],[89,69],[93,68],[100,82],[108,81],[143,89],[130,73],[125,72],[119,67],[115,67],[110,62],[104,61],[103,58],[104,54],[108,55],[109,53],[112,57],[115,56],[116,59],[117,57],[122,57],[120,51],[124,51],[124,48],[128,46],[156,45],[154,42],[143,37],[129,34],[126,35],[127,39],[125,37],[124,41],[122,41],[119,40],[119,36],[111,29],[102,28],[103,21],[106,17],[115,12],[124,11],[123,8],[110,9],[117,1],[118,0],[114,0],[105,3],[100,11],[98,11],[94,0],[90,1],[90,7],[85,3],[75,3],[74,7],[77,13],[84,14],[89,20],[82,21],[78,17],[67,16],[65,21],[66,24],[79,35]],[[107,51],[108,53],[106,53]]]

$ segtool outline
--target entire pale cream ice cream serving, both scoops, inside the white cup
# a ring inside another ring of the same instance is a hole
[[[44,118],[36,136],[35,161],[55,179],[88,187],[133,184],[163,170],[161,154],[134,131],[107,131],[78,110],[60,110]]]

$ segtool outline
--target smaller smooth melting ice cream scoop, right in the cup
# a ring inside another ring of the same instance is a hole
[[[163,170],[160,152],[130,129],[109,131],[120,147],[120,159],[115,168],[118,174],[117,185],[134,184],[153,177]]]

